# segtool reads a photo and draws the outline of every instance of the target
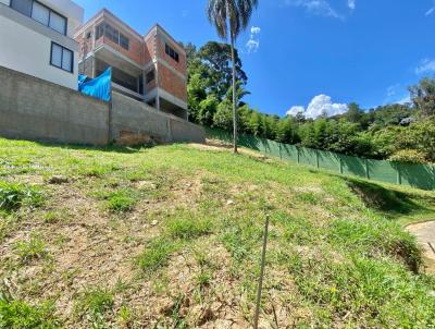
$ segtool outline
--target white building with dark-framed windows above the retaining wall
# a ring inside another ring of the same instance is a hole
[[[71,0],[0,0],[0,65],[77,89],[83,19]]]

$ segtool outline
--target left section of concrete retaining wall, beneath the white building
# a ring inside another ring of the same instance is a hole
[[[104,145],[108,103],[0,66],[0,135]]]

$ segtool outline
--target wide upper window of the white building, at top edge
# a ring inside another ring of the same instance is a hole
[[[67,20],[38,1],[12,0],[11,8],[63,35],[66,35]]]

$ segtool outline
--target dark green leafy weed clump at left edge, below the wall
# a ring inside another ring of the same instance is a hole
[[[40,207],[44,200],[36,187],[0,181],[0,211],[13,211],[21,206]]]

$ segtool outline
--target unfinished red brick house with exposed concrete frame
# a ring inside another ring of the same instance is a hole
[[[107,9],[75,34],[78,71],[96,77],[112,66],[112,88],[187,119],[186,51],[159,24],[145,36]]]

